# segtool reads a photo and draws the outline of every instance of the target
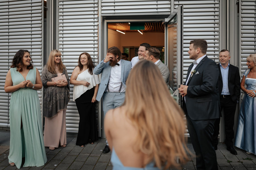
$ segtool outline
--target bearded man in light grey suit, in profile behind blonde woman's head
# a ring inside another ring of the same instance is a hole
[[[160,60],[160,51],[156,47],[146,48],[144,59],[152,61],[160,69],[166,84],[169,84],[170,71],[168,67]]]

